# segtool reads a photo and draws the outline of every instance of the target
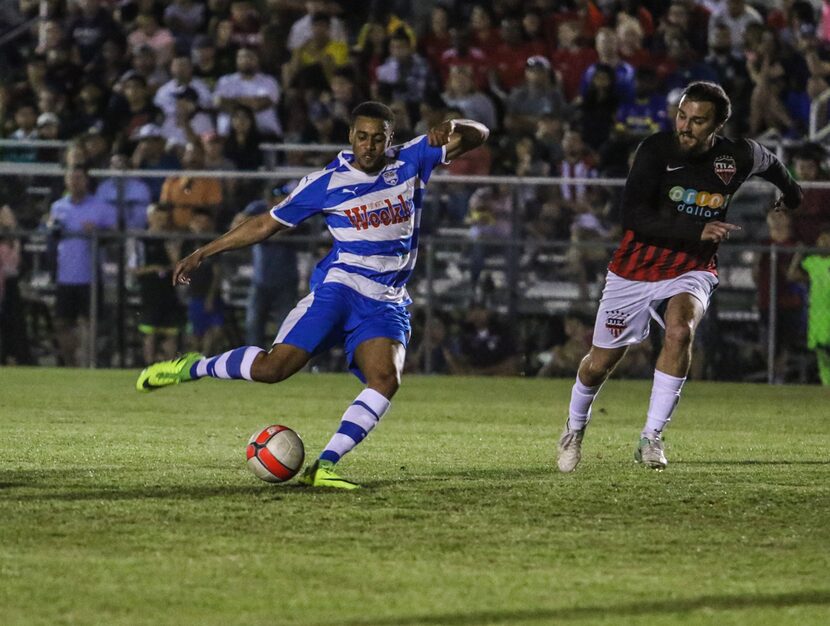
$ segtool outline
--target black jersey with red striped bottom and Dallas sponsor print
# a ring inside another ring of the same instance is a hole
[[[701,241],[706,222],[727,221],[738,188],[758,175],[795,208],[801,189],[784,165],[752,139],[716,137],[699,155],[684,155],[673,132],[643,140],[623,192],[623,239],[608,269],[631,280],[674,278],[692,270],[717,274],[717,243]]]

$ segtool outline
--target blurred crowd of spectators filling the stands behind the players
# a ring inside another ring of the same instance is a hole
[[[64,231],[224,230],[280,197],[278,186],[188,170],[321,166],[331,154],[262,146],[345,144],[349,113],[366,99],[393,108],[399,141],[453,117],[489,126],[488,144],[450,175],[585,179],[624,176],[639,141],[671,128],[690,81],[724,86],[728,135],[775,143],[805,139],[830,77],[826,0],[19,0],[2,3],[0,34],[0,138],[69,142],[4,148],[0,158],[70,168],[62,182],[2,177],[0,192],[15,198],[18,226]],[[827,117],[821,107],[815,121]],[[808,144],[792,166],[821,181],[825,162],[823,147]],[[107,167],[180,173],[123,188],[84,174]],[[33,186],[48,190],[46,210],[26,193]],[[793,242],[815,243],[830,220],[826,193],[808,192]],[[113,214],[117,201],[124,210]],[[574,242],[567,261],[587,297],[607,260],[590,244],[619,235],[617,191],[583,183],[452,185],[430,201],[424,228],[469,237],[479,288],[486,242],[515,235],[527,241],[527,272],[543,271],[544,242]],[[73,226],[67,202],[87,217]],[[147,250],[134,254],[145,278],[183,250],[150,252],[153,263]],[[82,284],[80,274],[67,272],[65,284]],[[203,285],[207,318],[219,308],[218,280]],[[79,313],[71,302],[70,318]]]

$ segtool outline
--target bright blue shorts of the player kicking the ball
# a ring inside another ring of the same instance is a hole
[[[354,360],[357,347],[387,337],[406,348],[411,332],[405,306],[366,298],[338,283],[323,283],[286,316],[274,343],[287,343],[312,355],[342,345],[349,370],[365,383]]]

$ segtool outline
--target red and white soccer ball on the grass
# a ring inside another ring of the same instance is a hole
[[[248,440],[248,468],[269,483],[284,483],[300,471],[305,448],[300,436],[287,426],[275,424],[258,430]]]

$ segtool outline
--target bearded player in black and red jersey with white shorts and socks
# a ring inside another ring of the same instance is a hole
[[[579,463],[591,404],[628,346],[648,336],[651,318],[665,337],[634,457],[647,467],[666,467],[661,433],[680,399],[695,329],[718,284],[718,244],[740,228],[726,219],[735,192],[758,175],[782,192],[779,210],[801,203],[800,187],[775,155],[751,139],[718,134],[730,113],[719,85],[691,83],[675,131],[652,135],[637,149],[623,192],[623,239],[608,266],[592,346],[579,366],[559,439],[560,471]],[[655,309],[664,301],[660,318]]]

